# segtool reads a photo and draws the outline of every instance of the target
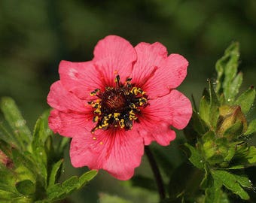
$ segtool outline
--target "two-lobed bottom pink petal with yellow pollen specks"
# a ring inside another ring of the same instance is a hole
[[[142,138],[137,132],[124,130],[96,130],[72,139],[72,165],[90,169],[104,169],[119,180],[128,180],[139,166],[144,153]]]

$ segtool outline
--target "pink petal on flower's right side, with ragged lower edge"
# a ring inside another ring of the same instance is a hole
[[[142,110],[140,123],[135,127],[144,138],[145,144],[157,141],[168,145],[175,139],[175,132],[170,129],[184,129],[192,115],[190,101],[181,92],[172,90],[168,95],[150,100],[150,105]]]

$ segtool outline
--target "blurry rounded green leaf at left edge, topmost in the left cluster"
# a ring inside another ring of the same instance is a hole
[[[0,107],[5,116],[5,120],[8,121],[11,129],[14,131],[14,141],[17,144],[17,147],[20,146],[23,150],[26,150],[26,144],[30,143],[32,135],[29,128],[26,126],[26,120],[23,119],[14,100],[12,98],[4,97],[1,100]]]

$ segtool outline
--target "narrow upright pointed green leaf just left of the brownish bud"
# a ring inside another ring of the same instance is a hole
[[[217,120],[219,115],[219,106],[218,97],[216,95],[215,89],[212,86],[212,83],[209,81],[209,92],[210,92],[210,110],[209,110],[209,121],[211,126],[215,129],[217,126]]]

